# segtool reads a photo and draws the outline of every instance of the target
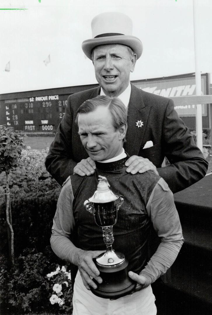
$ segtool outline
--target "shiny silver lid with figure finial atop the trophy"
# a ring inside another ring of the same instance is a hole
[[[106,203],[115,201],[118,197],[109,188],[109,182],[106,177],[98,176],[97,190],[94,192],[93,196],[88,200],[94,203]]]

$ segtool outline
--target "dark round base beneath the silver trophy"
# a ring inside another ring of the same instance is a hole
[[[97,289],[91,287],[91,292],[105,299],[118,299],[130,294],[135,289],[137,283],[129,278],[127,266],[128,261],[126,260],[119,266],[100,267],[97,265],[103,282],[99,284],[93,279],[93,282],[97,285]]]

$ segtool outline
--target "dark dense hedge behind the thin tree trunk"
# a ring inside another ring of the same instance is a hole
[[[11,202],[14,227],[15,256],[22,253],[26,247],[38,252],[50,243],[51,227],[56,211],[60,187],[47,192],[22,194]],[[1,249],[5,252],[7,243],[6,222],[4,213],[1,216]]]

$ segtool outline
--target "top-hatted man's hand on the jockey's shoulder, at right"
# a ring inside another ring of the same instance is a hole
[[[156,166],[150,162],[148,158],[132,155],[132,157],[129,157],[125,162],[125,165],[127,166],[127,173],[131,173],[133,175],[137,173],[145,173],[146,171],[152,171],[156,175],[159,175]]]

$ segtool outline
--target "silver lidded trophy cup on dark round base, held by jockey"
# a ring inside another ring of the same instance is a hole
[[[102,228],[106,252],[99,255],[94,262],[100,271],[103,282],[97,284],[97,289],[91,287],[93,294],[103,298],[119,298],[127,295],[135,288],[127,272],[128,261],[124,254],[115,252],[113,226],[117,221],[118,210],[124,202],[122,196],[116,196],[106,177],[98,176],[97,190],[89,200],[84,202],[85,209],[94,215],[95,222]]]

